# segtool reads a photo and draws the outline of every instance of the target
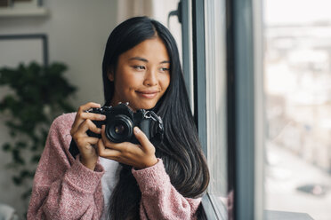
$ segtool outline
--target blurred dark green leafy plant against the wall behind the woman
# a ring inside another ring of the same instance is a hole
[[[69,98],[77,89],[64,77],[66,70],[62,63],[43,67],[36,62],[0,68],[0,86],[8,88],[6,95],[0,97],[0,114],[11,138],[2,149],[12,158],[7,168],[15,170],[13,183],[28,185],[22,194],[25,200],[30,195],[36,164],[52,120],[74,111]]]

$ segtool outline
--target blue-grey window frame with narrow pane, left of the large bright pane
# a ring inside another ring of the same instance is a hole
[[[261,19],[253,16],[252,2],[225,0],[192,1],[192,18],[195,114],[212,175],[203,200],[207,217],[262,219],[262,156],[256,150],[262,141],[255,133],[262,130],[255,117],[262,98],[254,100],[262,90],[261,75],[254,75],[261,30],[253,26]]]

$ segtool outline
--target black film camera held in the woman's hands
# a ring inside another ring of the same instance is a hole
[[[139,144],[139,141],[133,134],[133,128],[139,127],[147,138],[156,138],[157,141],[162,141],[163,138],[163,122],[153,111],[139,109],[135,113],[129,107],[128,103],[119,103],[117,106],[102,106],[100,108],[92,108],[87,110],[88,113],[104,114],[106,120],[93,121],[98,127],[106,125],[105,134],[109,141],[114,143],[131,142]],[[157,122],[157,130],[151,132],[151,123]],[[93,133],[91,130],[87,131],[90,137],[101,138],[100,134]]]

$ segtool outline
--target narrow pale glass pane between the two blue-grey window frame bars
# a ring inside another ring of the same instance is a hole
[[[227,198],[225,2],[205,1],[208,193],[219,216]],[[222,219],[223,219],[222,218]]]

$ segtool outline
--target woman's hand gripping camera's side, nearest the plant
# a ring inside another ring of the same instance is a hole
[[[103,121],[106,119],[106,116],[103,114],[85,112],[93,107],[101,107],[101,105],[89,102],[83,106],[80,106],[70,130],[70,135],[76,142],[79,149],[80,161],[86,168],[92,170],[94,170],[99,157],[94,147],[94,145],[98,143],[99,138],[89,137],[86,134],[86,131],[91,130],[96,134],[101,134],[101,129],[96,127],[92,121]]]

